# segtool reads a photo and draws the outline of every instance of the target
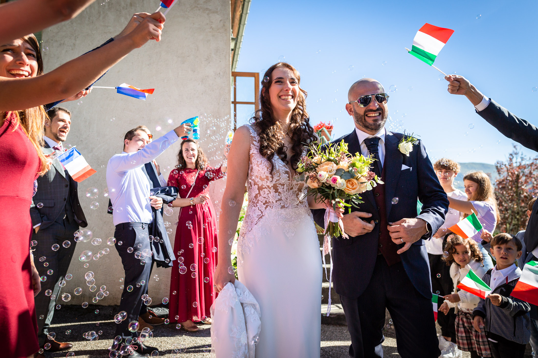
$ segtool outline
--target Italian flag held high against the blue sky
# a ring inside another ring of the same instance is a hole
[[[450,30],[450,28],[424,24],[416,33],[413,47],[409,53],[431,66],[452,33],[454,30]]]

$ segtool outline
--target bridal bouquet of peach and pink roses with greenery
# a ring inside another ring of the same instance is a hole
[[[296,180],[306,180],[308,194],[314,195],[316,203],[324,200],[332,203],[332,208],[327,209],[328,213],[325,214],[325,235],[346,237],[342,222],[335,212],[336,206],[358,208],[358,204],[364,202],[360,193],[371,190],[377,183],[383,184],[370,171],[374,160],[358,153],[351,155],[348,144],[344,141],[325,150],[321,149],[321,144],[313,144],[308,155],[301,157],[296,170],[299,177]]]

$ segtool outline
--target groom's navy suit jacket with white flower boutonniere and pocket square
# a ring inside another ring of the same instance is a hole
[[[400,258],[413,286],[421,295],[431,299],[430,268],[424,239],[430,239],[444,223],[449,202],[422,142],[419,140],[413,145],[413,151],[408,157],[398,149],[402,136],[401,133],[388,130],[385,135],[386,178],[381,179],[385,182],[386,215],[388,222],[419,217],[428,223],[431,232],[413,243],[409,250],[401,253]],[[360,143],[355,130],[331,144],[342,140],[348,143],[350,153],[360,153]],[[409,168],[402,170],[404,164]],[[364,292],[378,257],[380,228],[376,201],[372,191],[364,192],[360,196],[364,203],[359,204],[359,209],[352,207],[351,210],[371,213],[372,217],[367,221],[377,221],[376,226],[364,235],[350,236],[349,239],[339,237],[332,242],[334,289],[339,295],[349,298],[357,298]],[[393,198],[398,198],[398,203],[393,204]],[[420,215],[416,215],[417,198],[422,202]],[[312,211],[316,223],[323,227],[325,210]],[[398,245],[399,248],[403,246],[404,244]]]

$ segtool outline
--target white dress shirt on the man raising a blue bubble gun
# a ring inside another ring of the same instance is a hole
[[[114,225],[128,222],[149,224],[152,221],[150,182],[142,166],[157,158],[178,141],[173,130],[134,153],[122,152],[108,161],[107,186],[112,202]]]

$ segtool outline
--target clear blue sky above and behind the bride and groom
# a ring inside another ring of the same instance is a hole
[[[376,78],[391,96],[397,131],[419,135],[432,159],[493,164],[506,159],[513,141],[465,97],[449,94],[440,72],[404,47],[424,23],[455,30],[435,65],[469,78],[486,96],[538,125],[538,91],[532,91],[538,86],[537,13],[536,1],[253,0],[237,71],[261,72],[284,56],[301,72],[311,123],[330,120],[336,137],[353,128],[344,109],[349,86],[363,76]],[[389,91],[391,85],[397,91]],[[247,112],[238,111],[239,123]]]

